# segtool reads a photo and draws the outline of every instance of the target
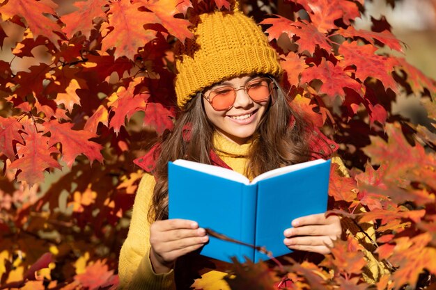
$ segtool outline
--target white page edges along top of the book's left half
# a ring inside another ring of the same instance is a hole
[[[219,166],[213,166],[209,164],[198,163],[194,161],[187,161],[183,159],[177,159],[176,161],[173,162],[173,164],[176,164],[177,166],[189,168],[192,170],[196,170],[199,172],[204,172],[209,175],[215,175],[217,177],[233,180],[235,182],[250,184],[250,181],[247,177],[244,177],[244,175],[240,174],[239,172],[233,171],[231,169],[222,168]]]

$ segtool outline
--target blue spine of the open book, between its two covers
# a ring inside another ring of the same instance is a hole
[[[256,236],[256,211],[257,211],[257,184],[242,186],[242,207],[240,211],[241,220],[241,241],[255,245]],[[238,259],[245,261],[245,258],[254,261],[254,248],[242,245]]]

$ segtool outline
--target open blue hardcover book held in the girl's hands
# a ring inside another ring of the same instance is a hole
[[[169,162],[169,218],[195,220],[231,239],[265,246],[274,257],[291,252],[283,231],[294,218],[327,210],[330,160],[263,173],[249,182],[238,172],[186,160]],[[270,259],[247,245],[209,236],[201,255],[231,262]]]

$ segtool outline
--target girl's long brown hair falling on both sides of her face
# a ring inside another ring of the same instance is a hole
[[[276,80],[270,107],[254,134],[248,154],[247,173],[257,176],[268,170],[308,161],[308,144],[312,124],[290,106],[290,99]],[[186,128],[189,126],[189,138]],[[203,109],[203,97],[198,93],[180,113],[173,131],[162,140],[160,155],[153,175],[157,180],[152,207],[148,211],[150,222],[168,218],[168,162],[187,159],[210,164],[214,127]],[[189,141],[187,141],[189,139]]]

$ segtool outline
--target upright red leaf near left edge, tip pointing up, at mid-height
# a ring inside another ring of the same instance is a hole
[[[17,181],[26,181],[29,186],[44,180],[44,170],[47,168],[61,168],[58,161],[51,156],[58,152],[55,147],[49,145],[50,138],[42,136],[32,124],[26,126],[24,146],[17,149],[19,159],[10,164],[10,169],[19,169]]]

